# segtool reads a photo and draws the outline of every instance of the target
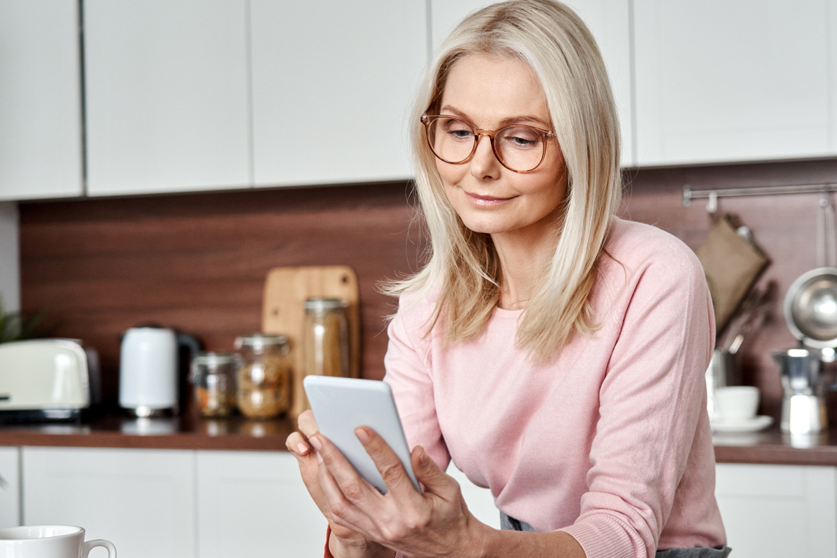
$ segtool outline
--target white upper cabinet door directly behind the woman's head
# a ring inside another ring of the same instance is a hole
[[[462,18],[490,0],[431,0],[434,50]],[[567,0],[567,6],[587,23],[602,51],[614,90],[622,130],[622,166],[634,165],[634,135],[631,107],[630,19],[629,0]]]

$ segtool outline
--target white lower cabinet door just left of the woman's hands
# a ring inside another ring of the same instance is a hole
[[[198,451],[198,553],[321,556],[326,519],[288,452]]]

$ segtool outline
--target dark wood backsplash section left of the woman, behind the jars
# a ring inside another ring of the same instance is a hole
[[[362,374],[383,377],[394,301],[377,283],[418,268],[405,182],[21,204],[24,312],[100,351],[116,405],[119,335],[155,322],[229,351],[260,328],[264,279],[283,266],[346,264],[358,276]]]

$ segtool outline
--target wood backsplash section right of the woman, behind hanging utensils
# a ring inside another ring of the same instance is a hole
[[[690,166],[626,171],[629,186],[625,192],[623,214],[652,223],[675,234],[692,249],[706,238],[711,219],[706,200],[683,206],[684,186],[694,190],[729,187],[764,187],[788,184],[837,182],[837,160],[758,163],[749,165]],[[777,284],[763,328],[745,341],[739,353],[743,381],[762,393],[760,412],[778,417],[782,387],[778,366],[771,353],[793,348],[796,340],[784,321],[782,301],[799,275],[816,267],[816,218],[819,194],[730,197],[718,200],[718,211],[737,214],[772,259],[759,279],[764,285]],[[832,202],[837,202],[837,195]],[[834,374],[829,366],[829,375]],[[829,397],[829,413],[837,421],[837,400]]]

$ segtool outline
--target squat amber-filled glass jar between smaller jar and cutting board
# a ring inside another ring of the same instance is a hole
[[[235,340],[241,356],[239,410],[250,418],[276,417],[290,406],[290,359],[285,335],[255,333]]]

